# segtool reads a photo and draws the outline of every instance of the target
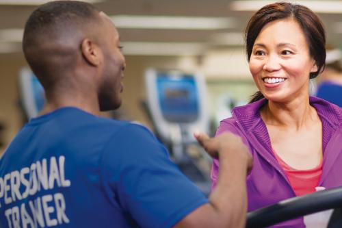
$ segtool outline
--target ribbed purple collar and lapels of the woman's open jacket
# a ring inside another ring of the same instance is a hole
[[[309,101],[317,110],[317,114],[319,115],[319,118],[321,118],[323,125],[324,172],[321,177],[321,181],[323,181],[328,175],[328,171],[333,166],[334,161],[340,152],[337,149],[331,149],[332,144],[336,143],[330,141],[336,141],[336,138],[338,137],[341,138],[341,134],[334,135],[334,132],[341,131],[342,108],[317,97],[310,97]],[[233,118],[235,118],[237,125],[239,125],[239,128],[248,138],[252,147],[256,149],[257,153],[259,153],[261,157],[267,160],[269,164],[274,166],[274,168],[276,168],[276,170],[278,170],[278,172],[287,179],[285,173],[282,171],[282,168],[272,153],[269,134],[265,123],[263,123],[263,120],[261,119],[259,110],[263,105],[265,105],[265,103],[267,103],[267,99],[264,98],[248,105],[235,107],[233,109]],[[328,151],[328,153],[325,153],[325,151]]]

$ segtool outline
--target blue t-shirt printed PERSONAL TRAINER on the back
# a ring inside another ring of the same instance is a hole
[[[0,159],[0,227],[172,227],[207,199],[142,127],[64,107]]]

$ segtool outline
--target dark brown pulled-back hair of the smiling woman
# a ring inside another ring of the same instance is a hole
[[[310,55],[317,65],[317,71],[310,73],[309,76],[310,79],[313,79],[324,70],[326,61],[326,33],[319,17],[303,5],[287,2],[272,3],[265,5],[250,18],[245,32],[248,61],[252,54],[254,42],[261,29],[269,22],[285,18],[293,18],[304,32]],[[263,98],[263,94],[258,91],[252,96],[250,103],[261,98]]]

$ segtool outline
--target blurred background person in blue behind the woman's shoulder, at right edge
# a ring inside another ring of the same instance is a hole
[[[328,49],[326,67],[319,76],[317,97],[342,107],[342,51]]]

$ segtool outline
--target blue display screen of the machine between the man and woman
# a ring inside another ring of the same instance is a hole
[[[157,94],[167,121],[190,123],[198,118],[198,88],[193,75],[158,73]]]

